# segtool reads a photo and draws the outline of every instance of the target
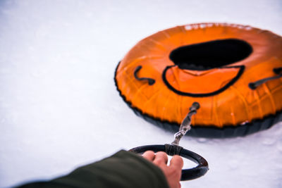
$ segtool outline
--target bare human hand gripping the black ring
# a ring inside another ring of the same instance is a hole
[[[156,154],[154,151],[146,151],[142,156],[161,168],[170,188],[181,187],[180,177],[183,159],[180,156],[173,156],[169,165],[167,165],[168,156],[163,151],[159,151]]]

